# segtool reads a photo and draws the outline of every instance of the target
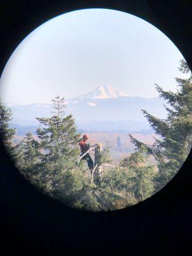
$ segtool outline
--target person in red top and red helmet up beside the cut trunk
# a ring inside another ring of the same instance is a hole
[[[79,142],[79,146],[81,148],[81,156],[83,156],[90,149],[90,144],[86,143],[87,140],[88,140],[88,136],[86,134],[84,134],[83,135],[83,140],[81,140]],[[93,164],[93,160],[92,160],[92,157],[90,156],[90,154],[87,153],[81,159],[87,161],[88,167],[90,168],[90,170],[92,172],[94,164]]]

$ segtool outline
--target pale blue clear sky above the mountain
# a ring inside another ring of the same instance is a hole
[[[157,97],[154,83],[177,90],[181,60],[159,29],[108,9],[65,13],[32,31],[15,49],[0,79],[8,104],[51,103],[110,84],[129,96]]]

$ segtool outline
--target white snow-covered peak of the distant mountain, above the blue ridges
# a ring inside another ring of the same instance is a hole
[[[129,97],[124,92],[120,92],[116,88],[113,88],[111,85],[106,86],[99,86],[92,92],[88,92],[86,94],[83,94],[77,98],[81,99],[115,99],[118,97]]]

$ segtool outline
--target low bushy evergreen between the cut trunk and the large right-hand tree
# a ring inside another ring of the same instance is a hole
[[[154,166],[147,163],[147,154],[134,152],[119,166],[105,171],[102,182],[95,184],[95,199],[99,211],[122,209],[154,192]]]

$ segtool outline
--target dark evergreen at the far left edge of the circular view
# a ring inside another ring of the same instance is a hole
[[[15,134],[15,129],[10,128],[10,121],[12,120],[12,111],[2,103],[0,99],[0,136],[3,140],[4,146],[9,153],[12,150],[12,138]]]

